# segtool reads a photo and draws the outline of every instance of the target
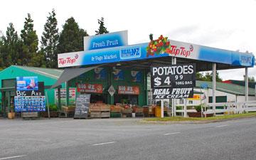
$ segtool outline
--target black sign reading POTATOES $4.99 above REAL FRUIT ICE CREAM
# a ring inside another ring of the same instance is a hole
[[[154,99],[193,97],[196,85],[196,64],[151,67]]]

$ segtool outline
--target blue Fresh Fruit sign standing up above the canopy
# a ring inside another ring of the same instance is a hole
[[[128,45],[127,31],[84,37],[84,50],[97,50]]]

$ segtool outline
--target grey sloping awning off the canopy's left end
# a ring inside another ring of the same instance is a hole
[[[55,87],[61,85],[63,82],[67,82],[68,80],[78,77],[78,75],[82,75],[82,73],[86,73],[90,70],[93,70],[94,68],[99,67],[99,66],[100,65],[90,67],[90,68],[65,68],[63,73],[60,75],[60,78],[58,78],[57,82],[55,82],[55,84],[52,85],[50,88],[55,88]]]

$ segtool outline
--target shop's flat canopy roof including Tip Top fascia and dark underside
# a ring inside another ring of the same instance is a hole
[[[240,53],[233,50],[211,48],[192,43],[169,40],[171,47],[150,49],[152,42],[128,46],[84,50],[73,53],[58,54],[58,67],[107,65],[110,67],[149,70],[151,65],[171,65],[176,63],[196,63],[196,72],[212,70],[217,63],[217,70],[254,67],[255,57],[252,53]],[[154,42],[156,43],[156,41]],[[161,49],[161,51],[159,51]]]

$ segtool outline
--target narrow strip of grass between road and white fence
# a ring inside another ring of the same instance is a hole
[[[164,118],[146,118],[144,121],[147,122],[180,122],[180,121],[215,121],[215,120],[225,120],[225,119],[237,119],[245,117],[256,117],[256,112],[244,113],[244,114],[229,114],[216,117],[164,117]]]

